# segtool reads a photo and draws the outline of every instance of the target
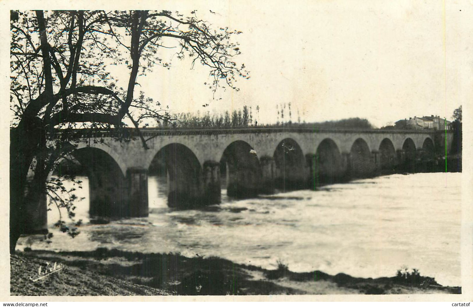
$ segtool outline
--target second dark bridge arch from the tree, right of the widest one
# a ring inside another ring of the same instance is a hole
[[[169,207],[187,209],[201,205],[202,168],[187,146],[180,143],[163,146],[151,160],[148,172],[149,175],[166,177]]]

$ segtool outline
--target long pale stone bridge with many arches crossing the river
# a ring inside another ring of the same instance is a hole
[[[401,167],[414,172],[421,161],[449,151],[453,139],[435,130],[142,129],[145,149],[137,136],[118,141],[109,132],[77,133],[72,159],[89,178],[89,213],[115,218],[148,215],[148,175],[166,176],[170,207],[193,208],[219,203],[222,188],[244,198]],[[44,229],[45,199],[29,207],[37,218],[32,228]]]

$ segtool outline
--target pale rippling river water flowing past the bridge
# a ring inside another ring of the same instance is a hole
[[[82,195],[88,195],[87,177]],[[233,200],[203,210],[166,206],[166,184],[149,177],[149,217],[88,222],[88,201],[78,203],[81,233],[70,238],[48,222],[52,243],[20,238],[18,248],[94,250],[219,256],[294,272],[320,270],[355,277],[394,276],[416,268],[442,285],[460,286],[461,173],[387,175]]]

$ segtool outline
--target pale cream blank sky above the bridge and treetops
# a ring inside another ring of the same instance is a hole
[[[96,9],[77,2],[57,9]],[[131,9],[129,3],[100,8]],[[238,79],[239,91],[219,90],[215,99],[204,85],[205,67],[191,70],[190,61],[163,49],[172,68],[157,67],[138,82],[173,113],[223,113],[247,105],[259,123],[275,123],[276,106],[290,102],[293,122],[299,113],[306,122],[361,117],[381,127],[413,116],[451,119],[455,108],[473,97],[473,0],[140,1],[135,6],[184,15],[195,9],[216,28],[243,32],[236,37],[242,54],[235,60],[245,63],[251,78]]]

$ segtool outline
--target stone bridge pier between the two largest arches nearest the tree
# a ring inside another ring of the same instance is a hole
[[[129,168],[128,199],[131,217],[147,217],[148,210],[148,170],[145,168]]]

